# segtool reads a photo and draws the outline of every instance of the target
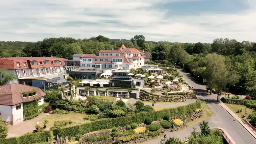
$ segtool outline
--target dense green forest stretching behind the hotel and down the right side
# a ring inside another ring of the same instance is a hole
[[[217,38],[212,43],[171,43],[145,41],[135,35],[130,41],[110,41],[99,35],[89,39],[45,38],[38,42],[0,42],[0,57],[62,57],[97,54],[99,50],[127,48],[152,52],[152,63],[178,64],[199,82],[207,79],[209,89],[256,96],[256,43]],[[218,64],[218,65],[216,65]]]

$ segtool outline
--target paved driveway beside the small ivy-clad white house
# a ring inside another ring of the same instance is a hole
[[[20,122],[20,123],[14,125],[14,126],[9,125],[8,126],[9,130],[8,130],[7,138],[24,135],[28,132],[33,132],[33,130],[35,130],[35,126],[33,126],[32,124],[34,122],[37,122],[40,119],[46,117],[47,114],[48,113],[41,113],[40,115],[38,115],[37,117],[35,117],[33,119]]]

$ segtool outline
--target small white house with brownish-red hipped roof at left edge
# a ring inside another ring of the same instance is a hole
[[[36,94],[24,97],[23,93],[36,90]],[[36,87],[20,84],[7,84],[0,86],[0,117],[10,125],[15,125],[24,120],[24,103],[38,98],[38,105],[44,104],[44,92]]]

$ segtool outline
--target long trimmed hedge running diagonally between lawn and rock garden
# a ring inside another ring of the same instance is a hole
[[[67,127],[63,129],[58,129],[57,133],[59,137],[75,137],[76,135],[84,135],[89,132],[101,130],[101,129],[111,129],[114,126],[126,126],[131,125],[132,123],[143,123],[146,117],[152,118],[153,121],[161,120],[165,115],[180,116],[188,115],[191,112],[194,112],[196,109],[201,108],[201,102],[196,101],[195,103],[188,104],[185,106],[180,106],[171,109],[164,109],[161,111],[152,111],[152,112],[140,112],[132,116],[119,117],[119,118],[109,118],[105,120],[97,120],[91,123],[85,123],[78,126]]]

